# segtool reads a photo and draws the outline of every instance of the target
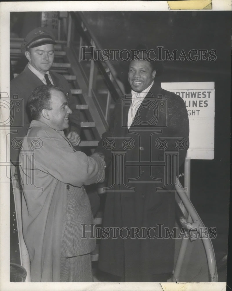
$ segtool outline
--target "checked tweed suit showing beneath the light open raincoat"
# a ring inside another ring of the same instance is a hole
[[[90,252],[95,247],[95,231],[86,232],[93,223],[90,202],[84,187],[67,185],[67,212],[61,245],[61,282],[92,282]],[[93,229],[93,227],[92,227]]]

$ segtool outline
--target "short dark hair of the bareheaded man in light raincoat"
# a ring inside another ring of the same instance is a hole
[[[61,91],[63,90],[54,85],[42,85],[35,88],[28,100],[28,109],[32,120],[38,120],[40,118],[41,111],[43,109],[51,110],[51,91]]]

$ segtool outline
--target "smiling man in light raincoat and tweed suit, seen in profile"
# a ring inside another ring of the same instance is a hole
[[[71,109],[63,91],[43,85],[28,100],[32,122],[19,160],[23,237],[32,282],[91,282],[95,248],[90,202],[83,185],[102,182],[102,155],[87,157],[64,135]]]

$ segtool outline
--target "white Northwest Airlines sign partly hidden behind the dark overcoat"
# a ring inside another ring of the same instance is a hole
[[[214,158],[214,82],[161,83],[183,98],[189,116],[191,159]]]

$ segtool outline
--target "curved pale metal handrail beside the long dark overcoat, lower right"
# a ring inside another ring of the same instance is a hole
[[[181,183],[178,180],[178,178],[176,178],[175,189],[177,191],[177,194],[179,195],[180,199],[182,200],[184,207],[188,211],[193,222],[197,222],[197,232],[200,234],[200,237],[202,235],[200,228],[204,228],[204,230],[206,231],[205,232],[206,237],[202,238],[202,242],[204,245],[204,249],[205,249],[206,257],[207,257],[207,262],[208,262],[209,279],[211,282],[217,282],[218,281],[218,274],[217,274],[215,253],[213,250],[213,244],[212,244],[211,239],[209,237],[209,233],[208,233],[206,227],[204,226],[204,223],[202,222],[199,214],[195,210],[191,200],[189,199],[186,192],[184,191],[184,188],[182,186],[179,186],[179,185],[181,185]]]

